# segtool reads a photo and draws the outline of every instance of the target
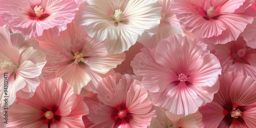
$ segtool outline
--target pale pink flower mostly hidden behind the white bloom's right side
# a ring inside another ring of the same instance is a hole
[[[159,4],[162,7],[161,11],[161,21],[157,30],[157,33],[151,33],[150,30],[146,30],[142,34],[142,37],[149,36],[150,34],[154,34],[150,39],[146,40],[138,40],[145,47],[154,48],[156,47],[162,39],[165,39],[174,34],[180,34],[180,23],[176,18],[176,15],[172,8],[170,8],[170,4],[172,4],[173,0],[160,0]],[[154,28],[155,29],[155,28]],[[154,32],[154,31],[153,31]],[[142,37],[139,37],[142,38]]]

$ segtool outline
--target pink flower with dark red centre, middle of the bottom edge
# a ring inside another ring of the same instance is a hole
[[[99,82],[97,97],[84,97],[90,127],[146,127],[155,116],[142,83],[117,73]],[[88,124],[86,122],[85,124]]]

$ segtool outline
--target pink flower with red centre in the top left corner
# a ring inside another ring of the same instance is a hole
[[[67,24],[72,22],[78,10],[76,2],[1,0],[0,10],[3,12],[2,18],[14,32],[23,33],[29,38],[47,39],[67,29]]]

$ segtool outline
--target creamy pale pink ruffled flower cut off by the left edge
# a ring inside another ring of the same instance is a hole
[[[46,55],[38,50],[38,42],[20,33],[0,27],[0,96],[1,107],[8,97],[8,105],[16,99],[31,97],[39,85],[38,76],[46,64]]]

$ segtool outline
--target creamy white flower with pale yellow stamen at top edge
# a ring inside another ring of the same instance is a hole
[[[112,54],[128,50],[139,35],[160,23],[158,0],[87,2],[80,5],[75,20],[86,27],[93,39],[105,40],[106,49]]]

